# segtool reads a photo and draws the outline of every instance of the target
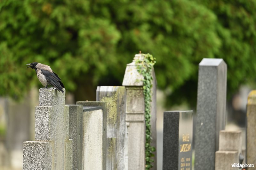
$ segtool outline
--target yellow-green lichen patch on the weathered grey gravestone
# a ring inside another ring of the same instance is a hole
[[[117,93],[113,96],[105,96],[100,101],[106,102],[107,105],[107,123],[108,124],[115,124],[116,118],[117,118],[117,106],[116,106],[116,100],[117,100]]]

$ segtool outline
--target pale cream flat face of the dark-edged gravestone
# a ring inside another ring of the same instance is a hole
[[[106,147],[103,150],[103,145],[106,145],[106,139],[103,139],[103,112],[101,109],[84,112],[83,120],[84,170],[102,170],[103,160],[106,162],[103,154],[106,152]]]

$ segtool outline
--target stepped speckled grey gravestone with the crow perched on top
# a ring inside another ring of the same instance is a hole
[[[55,88],[39,90],[39,106],[35,112],[36,141],[23,142],[23,170],[72,169],[68,111],[65,94]]]

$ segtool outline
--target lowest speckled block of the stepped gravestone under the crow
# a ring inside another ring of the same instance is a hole
[[[23,170],[52,170],[52,143],[23,142]]]

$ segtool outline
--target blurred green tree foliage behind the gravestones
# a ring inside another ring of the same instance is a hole
[[[27,63],[49,64],[76,100],[97,85],[121,85],[139,50],[156,57],[168,105],[195,107],[198,64],[223,58],[228,96],[255,80],[254,0],[3,0],[0,2],[0,95],[20,98],[40,85]]]

